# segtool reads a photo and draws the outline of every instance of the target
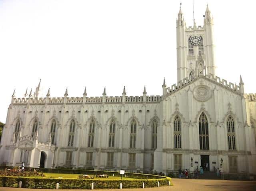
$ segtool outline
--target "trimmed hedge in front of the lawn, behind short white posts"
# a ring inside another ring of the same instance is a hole
[[[19,181],[22,181],[22,188],[55,189],[56,183],[59,183],[60,189],[90,189],[91,183],[94,183],[95,189],[117,189],[120,183],[122,183],[123,188],[142,188],[143,182],[145,187],[157,187],[158,181],[160,186],[167,186],[171,179],[164,177],[141,180],[92,180],[0,176],[0,187],[18,187]]]

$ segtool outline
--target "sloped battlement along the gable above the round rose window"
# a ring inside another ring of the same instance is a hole
[[[198,76],[195,77],[193,80],[190,80],[188,77],[184,78],[183,80],[181,80],[180,82],[178,82],[178,84],[173,84],[171,87],[167,88],[167,94],[171,95],[175,92],[177,92],[178,90],[180,90],[181,88],[184,88],[185,86],[191,84],[192,82],[194,82],[194,80],[197,80],[198,78],[207,78],[208,80],[212,80],[215,83],[219,84],[220,86],[224,87],[224,88],[228,88],[229,90],[231,90],[232,92],[236,92],[238,94],[240,94],[240,86],[237,86],[236,84],[233,84],[231,82],[227,82],[227,80],[221,79],[218,76],[213,76],[212,74],[209,75],[204,75],[204,76]]]

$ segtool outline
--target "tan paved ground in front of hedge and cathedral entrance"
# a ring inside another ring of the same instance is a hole
[[[144,191],[256,191],[256,181],[202,180],[202,179],[172,179],[173,186],[146,188]],[[0,191],[52,191],[52,189],[4,188]],[[122,189],[123,191],[142,191],[142,189]],[[61,190],[74,191],[74,190]],[[76,190],[81,191],[81,190]],[[104,191],[120,191],[110,189]]]

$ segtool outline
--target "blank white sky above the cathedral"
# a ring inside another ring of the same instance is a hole
[[[254,0],[194,0],[197,25],[206,2],[214,17],[217,76],[255,88]],[[41,96],[162,95],[176,83],[180,0],[0,0],[0,121],[16,88],[23,97],[42,78]],[[192,0],[182,0],[192,26]]]

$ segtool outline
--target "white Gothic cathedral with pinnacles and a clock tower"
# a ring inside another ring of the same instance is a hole
[[[12,95],[0,165],[175,173],[179,168],[256,174],[256,94],[217,76],[213,18],[176,20],[177,83],[162,96]],[[29,93],[29,94],[28,94]],[[121,92],[120,92],[121,93]]]

